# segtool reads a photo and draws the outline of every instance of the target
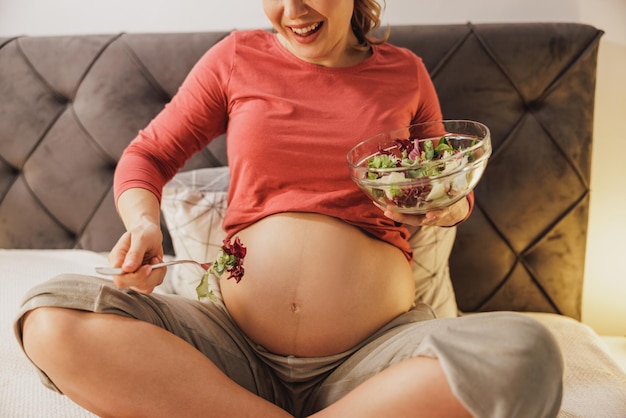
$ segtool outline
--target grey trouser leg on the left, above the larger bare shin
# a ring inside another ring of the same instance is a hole
[[[275,402],[278,384],[259,361],[223,304],[177,295],[118,289],[110,280],[64,274],[31,289],[15,325],[21,342],[22,318],[38,307],[62,307],[121,315],[161,327],[193,345],[232,380]]]

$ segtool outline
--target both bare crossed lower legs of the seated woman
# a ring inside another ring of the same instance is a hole
[[[102,417],[288,417],[177,336],[119,315],[38,308],[24,349],[70,399]],[[418,357],[367,380],[315,414],[467,417],[437,360]]]

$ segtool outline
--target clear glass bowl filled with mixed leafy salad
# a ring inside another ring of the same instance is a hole
[[[352,148],[350,175],[373,201],[423,214],[449,206],[476,187],[491,156],[489,128],[444,120],[383,132]]]

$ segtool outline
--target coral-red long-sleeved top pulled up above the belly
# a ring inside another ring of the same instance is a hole
[[[315,212],[358,226],[410,259],[407,229],[354,184],[346,154],[382,131],[440,119],[428,72],[407,49],[374,46],[357,65],[327,68],[296,58],[267,31],[234,31],[125,150],[115,198],[140,187],[160,199],[192,154],[227,133],[229,237],[268,215]]]

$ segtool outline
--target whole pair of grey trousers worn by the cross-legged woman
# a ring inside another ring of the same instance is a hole
[[[512,312],[436,319],[421,304],[347,352],[298,358],[254,344],[221,302],[145,295],[70,274],[27,293],[15,324],[20,343],[23,315],[43,306],[123,315],[162,327],[241,386],[297,417],[323,409],[381,370],[416,356],[439,359],[453,393],[476,417],[554,417],[561,403],[557,343],[539,322]]]

